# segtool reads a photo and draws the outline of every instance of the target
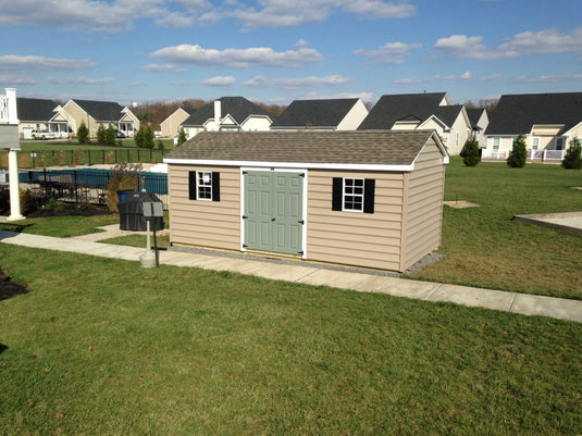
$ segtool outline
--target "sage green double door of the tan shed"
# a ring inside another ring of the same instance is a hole
[[[244,247],[302,254],[305,173],[243,172]]]

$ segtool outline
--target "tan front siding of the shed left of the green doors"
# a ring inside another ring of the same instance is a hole
[[[190,200],[188,172],[220,173],[220,201]],[[170,241],[226,250],[240,249],[238,167],[169,165]]]

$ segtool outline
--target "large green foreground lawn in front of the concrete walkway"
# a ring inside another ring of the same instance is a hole
[[[0,245],[5,435],[578,435],[582,324]]]

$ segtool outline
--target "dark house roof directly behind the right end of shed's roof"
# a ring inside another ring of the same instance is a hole
[[[437,108],[446,108],[438,105],[445,98],[447,98],[446,92],[382,96],[358,130],[392,128],[397,121],[418,119],[424,122]]]

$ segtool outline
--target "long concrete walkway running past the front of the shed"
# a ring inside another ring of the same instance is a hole
[[[50,236],[0,232],[0,242],[139,261],[139,257],[145,252],[145,248],[125,247],[97,241],[113,236],[135,234],[136,232],[119,231],[119,225],[106,226],[103,229],[110,232],[84,235],[75,238],[54,238]],[[248,257],[248,259],[247,257],[231,258],[220,256],[220,253],[193,253],[175,250],[160,251],[159,254],[160,263],[166,265],[230,271],[271,279],[324,285],[363,292],[381,292],[424,301],[445,301],[525,315],[545,315],[582,323],[582,301],[578,300],[419,282],[372,273],[368,274],[361,271],[335,271],[310,262],[276,263],[253,257]]]

